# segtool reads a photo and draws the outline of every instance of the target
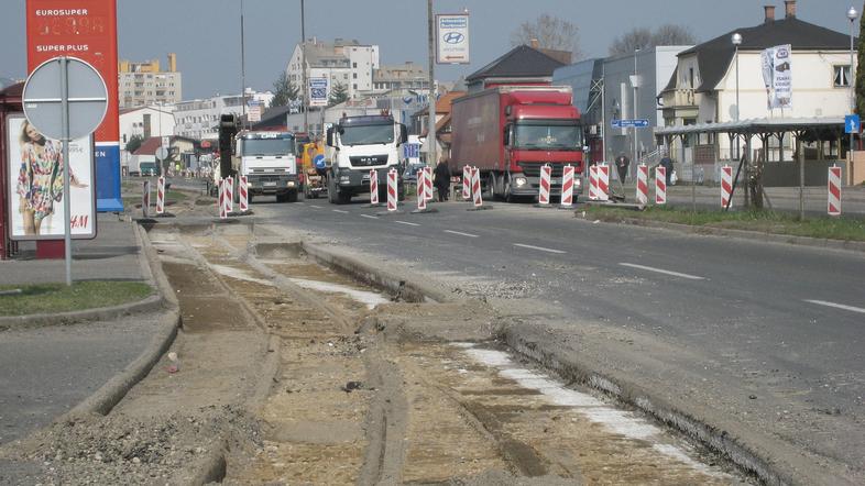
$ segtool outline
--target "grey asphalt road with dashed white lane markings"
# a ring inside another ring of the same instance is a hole
[[[771,387],[806,416],[832,416],[832,430],[822,430],[831,437],[802,441],[863,466],[865,255],[594,223],[532,205],[431,206],[437,213],[413,214],[407,203],[385,216],[326,200],[253,210],[398,261],[420,278],[540,299],[699,352],[700,373],[731,393]]]

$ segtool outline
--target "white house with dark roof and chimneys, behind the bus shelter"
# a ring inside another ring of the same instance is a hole
[[[664,120],[667,126],[702,123],[723,123],[752,119],[806,119],[839,118],[851,112],[850,35],[831,31],[797,19],[796,1],[785,2],[785,18],[775,19],[775,7],[765,7],[764,22],[757,26],[742,27],[685,51],[678,56],[676,71],[661,91]],[[738,46],[738,81],[736,81],[736,48],[733,34],[742,36]],[[790,44],[792,75],[791,109],[767,108],[767,89],[763,79],[760,53],[778,45]],[[855,63],[855,60],[854,60]],[[738,107],[736,106],[738,91]],[[716,143],[721,159],[735,155],[730,140],[713,140],[709,134],[693,135],[686,141],[686,162],[700,161],[692,147]],[[787,136],[780,143],[769,139],[769,161],[792,156],[795,140]],[[680,153],[680,145],[672,153]]]

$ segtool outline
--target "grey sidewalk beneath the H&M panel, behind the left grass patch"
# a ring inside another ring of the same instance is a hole
[[[97,236],[73,240],[73,280],[146,281],[134,224],[113,213],[99,213]],[[11,259],[0,261],[0,285],[66,281],[64,258],[36,259],[36,243],[32,241],[20,242],[19,250]]]

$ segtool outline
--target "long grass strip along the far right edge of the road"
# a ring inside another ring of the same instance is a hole
[[[865,241],[865,220],[856,218],[807,218],[775,211],[709,211],[648,207],[645,211],[589,206],[585,217],[601,221],[645,220],[689,224],[693,227],[729,228],[789,234],[829,240]]]

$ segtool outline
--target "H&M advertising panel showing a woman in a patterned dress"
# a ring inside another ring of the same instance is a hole
[[[9,234],[12,240],[58,240],[65,234],[63,161],[59,141],[48,140],[23,114],[7,118]],[[69,143],[72,238],[96,236],[96,191],[91,136]]]

